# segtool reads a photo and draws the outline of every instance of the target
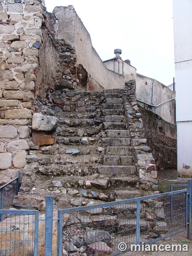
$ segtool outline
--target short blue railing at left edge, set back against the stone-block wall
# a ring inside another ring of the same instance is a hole
[[[15,195],[18,195],[19,191],[19,171],[17,171],[17,177],[6,183],[3,186],[0,186],[0,209],[9,209],[13,205],[13,198]],[[0,215],[0,221],[3,216]]]

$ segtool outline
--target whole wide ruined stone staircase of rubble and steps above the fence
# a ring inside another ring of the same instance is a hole
[[[29,140],[20,193],[53,195],[66,208],[157,190],[156,165],[146,146],[134,88],[135,81],[130,81],[125,89],[103,92],[55,90],[56,144]],[[39,104],[38,113],[45,113],[45,107]]]

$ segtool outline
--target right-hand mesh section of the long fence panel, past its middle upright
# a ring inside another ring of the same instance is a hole
[[[147,222],[148,230],[140,230],[140,243],[148,244],[186,229],[186,191],[141,201],[140,216]]]

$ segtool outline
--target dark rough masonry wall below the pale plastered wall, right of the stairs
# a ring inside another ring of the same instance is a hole
[[[177,169],[177,127],[140,104],[147,143],[151,147],[157,170]]]

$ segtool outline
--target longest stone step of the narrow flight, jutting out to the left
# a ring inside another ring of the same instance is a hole
[[[135,166],[97,166],[97,171],[99,174],[112,176],[127,176],[127,175],[137,175],[137,170]]]

